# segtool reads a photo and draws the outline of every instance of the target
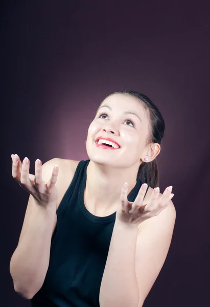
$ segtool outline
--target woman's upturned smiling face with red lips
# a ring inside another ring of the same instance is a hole
[[[134,114],[130,114],[134,113]],[[127,114],[126,114],[127,113]],[[90,160],[113,167],[140,164],[146,150],[149,134],[149,116],[135,97],[114,94],[107,97],[88,128],[86,141]],[[98,137],[111,138],[120,148],[103,149],[96,146]]]

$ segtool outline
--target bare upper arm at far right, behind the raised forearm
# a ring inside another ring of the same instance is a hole
[[[168,207],[158,215],[144,221],[136,240],[135,272],[139,302],[142,307],[166,260],[176,219],[176,210],[169,201]]]

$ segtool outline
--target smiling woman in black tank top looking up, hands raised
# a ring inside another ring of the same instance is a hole
[[[31,306],[143,305],[176,218],[172,186],[158,188],[164,130],[147,96],[118,91],[90,123],[88,160],[37,159],[34,176],[12,155],[12,176],[30,196],[10,273]]]

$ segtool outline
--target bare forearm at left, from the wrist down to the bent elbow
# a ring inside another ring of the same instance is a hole
[[[51,238],[57,221],[56,204],[44,208],[34,200],[31,201],[34,204],[26,231],[10,260],[14,289],[27,299],[33,297],[43,284],[49,267]]]

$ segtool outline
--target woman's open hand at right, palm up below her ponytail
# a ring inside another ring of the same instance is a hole
[[[174,194],[171,194],[172,187],[167,187],[159,198],[159,188],[153,190],[149,202],[143,205],[144,196],[147,190],[147,184],[143,184],[138,191],[135,201],[129,202],[127,199],[128,184],[124,185],[121,191],[121,203],[116,210],[116,220],[126,225],[136,225],[148,220],[148,218],[158,215],[168,206],[169,200]],[[157,191],[157,193],[155,193]]]

